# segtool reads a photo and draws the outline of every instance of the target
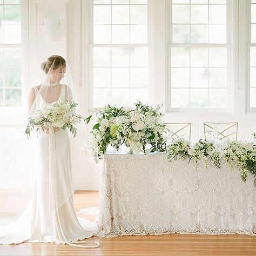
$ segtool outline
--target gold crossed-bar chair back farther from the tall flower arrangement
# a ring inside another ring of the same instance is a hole
[[[237,140],[238,123],[204,123],[205,139],[217,133],[219,139]]]

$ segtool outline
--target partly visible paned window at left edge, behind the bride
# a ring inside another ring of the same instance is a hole
[[[22,104],[20,2],[0,0],[0,107]]]

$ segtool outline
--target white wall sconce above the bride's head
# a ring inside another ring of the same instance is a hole
[[[51,40],[57,41],[59,38],[60,32],[60,21],[59,18],[44,18],[44,36]]]

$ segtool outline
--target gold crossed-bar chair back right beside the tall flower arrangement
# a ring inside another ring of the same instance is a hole
[[[191,123],[164,123],[170,132],[171,139],[191,138]]]

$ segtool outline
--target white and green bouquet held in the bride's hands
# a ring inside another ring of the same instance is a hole
[[[64,100],[57,100],[53,103],[46,103],[41,110],[37,110],[35,114],[28,120],[25,133],[30,136],[32,130],[37,132],[42,127],[50,129],[51,127],[59,127],[65,130],[68,128],[75,138],[77,129],[76,124],[84,120],[82,116],[76,114],[77,103],[66,103]]]

